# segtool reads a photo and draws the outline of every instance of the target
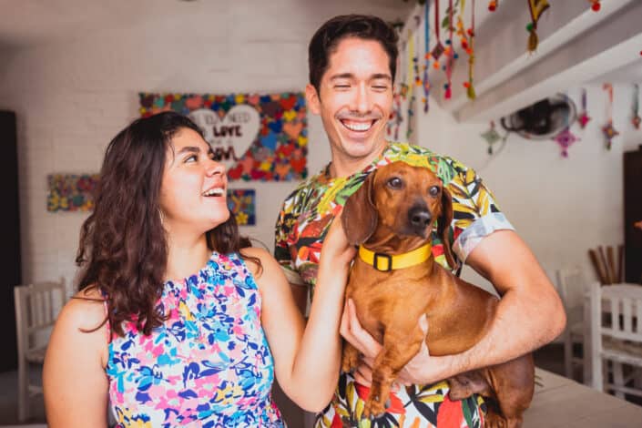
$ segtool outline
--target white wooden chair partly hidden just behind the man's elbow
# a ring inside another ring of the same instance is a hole
[[[566,329],[564,340],[564,373],[574,379],[574,367],[584,366],[584,356],[574,353],[574,344],[584,344],[584,293],[588,289],[580,268],[565,268],[555,272],[557,290],[566,310]],[[583,380],[586,382],[586,380]]]

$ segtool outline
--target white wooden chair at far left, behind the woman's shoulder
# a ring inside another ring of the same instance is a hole
[[[30,364],[45,361],[46,343],[62,309],[65,298],[65,279],[58,282],[36,282],[14,287],[15,332],[18,348],[18,420],[29,418],[29,400],[42,393],[41,384],[33,384]]]

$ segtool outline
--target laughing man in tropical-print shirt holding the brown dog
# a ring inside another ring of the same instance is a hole
[[[511,360],[552,341],[564,329],[565,313],[545,272],[473,170],[426,148],[386,141],[396,44],[397,36],[389,25],[363,15],[332,18],[312,37],[306,97],[311,111],[321,115],[332,158],[320,174],[302,183],[283,203],[275,255],[300,301],[305,301],[307,287],[313,298],[325,232],[363,179],[395,160],[433,168],[453,194],[454,252],[494,284],[502,301],[490,329],[472,349],[443,357],[430,357],[430,350],[420,352],[398,379],[406,386],[392,393],[386,413],[366,426],[481,426],[483,400],[474,396],[451,402],[447,383],[441,381]],[[436,235],[433,254],[448,268]],[[362,331],[352,307],[344,313],[341,334],[362,352],[364,362],[372,363],[380,345]],[[354,377],[341,374],[334,399],[317,417],[316,426],[358,426],[369,377],[368,364]]]

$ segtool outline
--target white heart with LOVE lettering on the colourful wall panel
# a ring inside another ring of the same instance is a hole
[[[227,169],[243,158],[259,133],[259,112],[246,104],[231,107],[223,117],[199,108],[189,113],[189,118],[203,131],[205,140]]]

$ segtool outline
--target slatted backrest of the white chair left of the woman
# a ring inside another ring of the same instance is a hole
[[[18,352],[24,353],[46,343],[58,312],[65,304],[65,280],[36,282],[14,287],[15,330]],[[39,335],[46,335],[43,338]]]

